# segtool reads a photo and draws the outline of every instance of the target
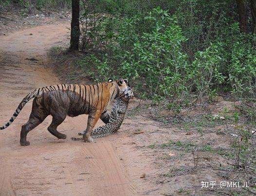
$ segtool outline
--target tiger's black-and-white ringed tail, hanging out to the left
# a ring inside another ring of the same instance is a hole
[[[8,127],[9,125],[11,125],[13,123],[13,121],[16,119],[16,117],[18,116],[19,112],[21,111],[21,109],[26,105],[26,103],[29,102],[29,100],[33,99],[35,96],[41,94],[41,89],[35,89],[32,90],[29,94],[27,94],[23,100],[20,102],[20,104],[18,105],[16,111],[14,112],[12,118],[9,120],[8,123],[6,123],[5,125],[0,127],[0,130],[5,129],[6,127]]]

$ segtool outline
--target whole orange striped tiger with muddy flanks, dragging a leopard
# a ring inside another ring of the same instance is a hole
[[[20,145],[30,145],[27,134],[49,115],[53,119],[47,130],[58,139],[66,139],[65,134],[57,131],[57,126],[67,115],[75,117],[81,114],[88,114],[83,140],[91,143],[93,142],[91,131],[97,121],[101,119],[104,123],[108,123],[106,111],[109,103],[117,97],[128,95],[127,84],[127,79],[119,78],[94,85],[60,84],[34,89],[23,98],[9,122],[0,127],[0,130],[11,125],[25,104],[34,98],[29,120],[21,126]]]

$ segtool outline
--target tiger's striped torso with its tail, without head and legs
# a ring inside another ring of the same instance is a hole
[[[0,127],[0,129],[4,129],[11,125],[21,109],[32,98],[36,98],[37,104],[43,105],[47,110],[54,109],[51,107],[56,107],[61,104],[63,107],[62,109],[71,117],[78,116],[80,114],[88,114],[90,107],[92,109],[95,106],[98,106],[100,109],[104,109],[109,104],[111,98],[107,100],[100,98],[103,97],[100,96],[103,94],[103,90],[99,91],[99,85],[101,86],[100,89],[103,89],[104,86],[106,86],[104,83],[96,85],[60,84],[35,89],[22,100],[10,121],[6,125]],[[95,93],[98,94],[98,99],[93,99],[92,96],[95,95]],[[114,93],[115,92],[113,92],[113,94]],[[44,101],[47,101],[47,104],[45,104]],[[55,101],[58,103],[53,103]]]

